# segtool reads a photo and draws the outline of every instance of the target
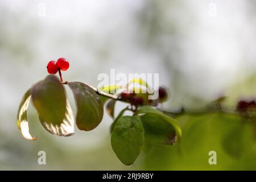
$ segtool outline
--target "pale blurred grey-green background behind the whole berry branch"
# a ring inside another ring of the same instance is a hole
[[[96,86],[98,74],[111,68],[159,73],[172,95],[164,109],[201,109],[220,96],[234,109],[241,98],[256,96],[255,12],[253,0],[0,1],[0,169],[256,169],[251,128],[229,115],[178,118],[180,144],[152,146],[128,167],[110,146],[107,114],[95,130],[76,129],[68,138],[47,133],[31,106],[30,130],[38,140],[23,139],[16,126],[23,93],[59,57],[71,64],[64,80]],[[225,147],[230,142],[233,149]],[[208,163],[210,150],[217,165]]]

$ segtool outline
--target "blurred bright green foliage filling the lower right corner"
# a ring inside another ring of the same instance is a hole
[[[183,131],[180,143],[152,146],[144,160],[146,169],[256,169],[253,130],[240,116],[208,113],[183,115],[177,121]],[[216,165],[208,162],[210,151],[216,151]]]

